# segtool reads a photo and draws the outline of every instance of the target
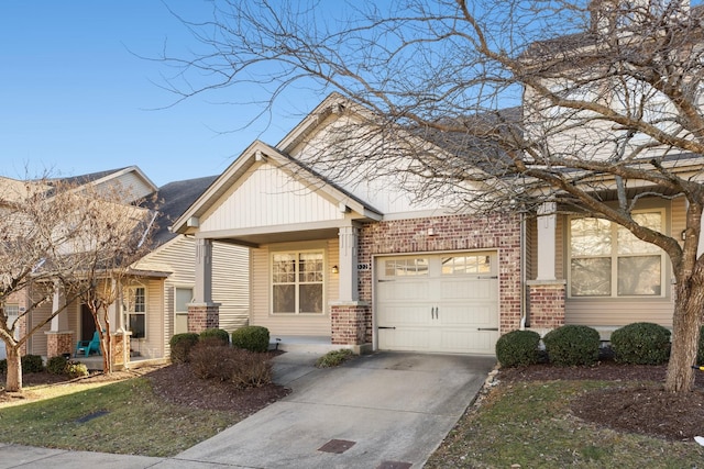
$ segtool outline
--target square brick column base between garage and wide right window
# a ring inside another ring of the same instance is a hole
[[[552,330],[564,325],[564,281],[528,282],[528,315],[531,328]]]

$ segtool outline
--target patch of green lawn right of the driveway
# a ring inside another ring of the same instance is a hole
[[[499,384],[460,420],[426,468],[702,467],[704,448],[694,442],[598,428],[570,413],[572,399],[606,386],[603,381]]]

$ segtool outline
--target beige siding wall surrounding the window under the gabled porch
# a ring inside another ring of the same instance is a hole
[[[323,314],[272,314],[271,313],[271,253],[275,250],[324,249],[324,313]],[[338,277],[330,272],[339,261],[339,241],[323,239],[304,244],[267,245],[252,249],[252,319],[251,324],[268,328],[275,336],[327,336],[331,335],[330,302],[339,297]]]

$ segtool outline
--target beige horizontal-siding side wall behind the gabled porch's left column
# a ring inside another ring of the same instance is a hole
[[[194,288],[196,284],[196,242],[179,236],[146,256],[141,268],[150,266],[172,272],[163,281],[161,317],[163,322],[162,342],[165,354],[169,353],[168,340],[174,335],[174,297],[176,288]],[[220,328],[232,332],[246,325],[249,321],[248,248],[226,243],[212,246],[212,301],[220,303]],[[150,300],[151,301],[151,300]]]

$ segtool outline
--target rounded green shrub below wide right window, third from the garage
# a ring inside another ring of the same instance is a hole
[[[662,365],[670,358],[670,335],[659,324],[628,324],[612,334],[614,358],[622,364]]]

